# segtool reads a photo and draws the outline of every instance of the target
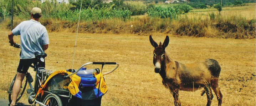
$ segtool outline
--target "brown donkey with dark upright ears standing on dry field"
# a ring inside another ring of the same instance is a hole
[[[171,59],[165,53],[165,47],[169,44],[169,37],[166,36],[164,43],[159,45],[149,36],[149,41],[154,49],[153,63],[155,73],[159,73],[163,78],[163,85],[170,89],[174,98],[174,105],[181,106],[179,100],[179,90],[195,91],[204,88],[201,93],[203,96],[206,93],[207,105],[211,105],[213,94],[211,88],[217,96],[218,106],[221,106],[222,94],[218,87],[220,65],[214,59],[206,59],[205,61],[183,64]]]

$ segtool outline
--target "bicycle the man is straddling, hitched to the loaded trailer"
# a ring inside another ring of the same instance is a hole
[[[10,46],[13,46],[15,48],[20,48],[20,45],[17,43],[11,44]],[[29,95],[36,94],[41,83],[43,83],[43,81],[46,80],[47,76],[50,76],[50,74],[53,72],[53,71],[45,70],[45,57],[46,56],[47,56],[46,53],[35,54],[36,64],[34,64],[34,66],[30,65],[30,67],[32,67],[34,69],[34,71],[36,71],[34,87],[31,84],[34,80],[33,80],[32,76],[30,75],[30,73],[27,72],[24,80],[21,83],[20,93],[17,96],[16,102],[18,102],[21,99],[21,96],[24,94],[24,92],[26,90],[27,84],[29,84],[29,87],[30,87],[30,89],[27,89],[27,93]],[[8,90],[10,103],[12,102],[12,88],[14,86],[15,80],[16,80],[16,75],[15,75],[14,79],[12,80],[10,88]],[[33,104],[34,101],[28,99],[28,102],[29,102],[29,104]]]

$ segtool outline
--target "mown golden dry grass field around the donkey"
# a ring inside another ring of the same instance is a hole
[[[9,46],[7,30],[0,30],[0,98],[8,99],[7,89],[16,73],[20,49]],[[50,45],[46,51],[46,68],[56,71],[70,69],[75,44],[75,33],[49,33]],[[221,65],[219,87],[223,94],[222,106],[255,106],[255,39],[218,39],[170,36],[167,54],[181,63],[193,63],[207,58]],[[20,42],[19,36],[15,41]],[[165,35],[153,34],[158,43]],[[153,50],[149,36],[128,34],[78,34],[75,69],[91,61],[114,61],[117,71],[106,75],[108,92],[102,106],[174,106],[173,97],[154,72]],[[90,66],[88,68],[99,68]],[[104,72],[113,66],[107,66]],[[34,75],[32,69],[29,72]],[[180,92],[181,105],[205,106],[206,95]],[[28,104],[27,97],[21,102]],[[214,94],[212,106],[217,106]]]

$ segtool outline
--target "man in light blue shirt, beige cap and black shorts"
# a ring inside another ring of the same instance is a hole
[[[12,45],[15,44],[14,35],[20,35],[21,55],[20,63],[17,68],[17,76],[12,92],[12,102],[14,106],[20,92],[21,83],[32,63],[35,63],[35,53],[44,53],[48,48],[49,38],[46,28],[41,25],[39,18],[42,16],[41,9],[34,7],[31,10],[31,20],[21,22],[15,29],[10,31],[8,38]]]

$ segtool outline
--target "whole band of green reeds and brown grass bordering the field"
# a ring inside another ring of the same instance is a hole
[[[79,10],[71,10],[73,5],[57,4],[57,2],[41,4],[39,1],[30,0],[14,1],[17,3],[14,26],[30,19],[29,13],[32,7],[39,7],[43,12],[40,22],[48,31],[76,31]],[[0,7],[1,27],[10,29],[10,3],[7,0],[0,0],[0,5],[2,6]],[[127,9],[112,7],[82,9],[79,29],[81,33],[139,35],[164,33],[196,37],[255,38],[255,19],[247,19],[237,14],[221,16],[215,13],[209,13],[206,17],[200,15],[189,18],[181,15],[180,7],[175,6],[148,5],[148,16],[142,18],[130,18],[132,12]]]

